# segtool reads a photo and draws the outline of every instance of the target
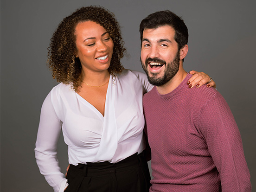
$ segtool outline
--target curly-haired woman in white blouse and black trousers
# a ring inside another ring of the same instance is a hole
[[[35,154],[55,192],[148,192],[142,96],[152,85],[143,73],[123,69],[124,51],[118,23],[102,7],[78,9],[51,38],[48,62],[61,83],[43,103]],[[210,77],[192,78],[204,84]],[[67,179],[57,160],[61,130]]]

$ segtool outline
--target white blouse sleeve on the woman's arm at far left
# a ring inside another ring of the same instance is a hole
[[[52,105],[50,92],[41,109],[35,156],[40,173],[45,176],[54,192],[63,192],[65,187],[68,186],[67,179],[60,172],[57,159],[57,143],[61,125],[62,122],[58,119]]]

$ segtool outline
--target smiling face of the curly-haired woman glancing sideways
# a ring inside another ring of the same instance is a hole
[[[78,23],[75,28],[76,56],[82,70],[100,72],[110,66],[114,43],[109,33],[93,21]]]

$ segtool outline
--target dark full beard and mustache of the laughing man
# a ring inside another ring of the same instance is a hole
[[[150,73],[151,76],[149,76],[149,71],[147,70],[147,64],[149,61],[154,61],[160,64],[165,64],[166,68],[164,70],[164,75],[162,77],[157,77],[158,73]],[[145,61],[145,64],[142,64],[143,70],[147,74],[148,82],[155,85],[155,86],[162,86],[168,81],[170,81],[178,72],[179,70],[179,51],[177,52],[175,58],[170,63],[166,64],[166,61],[161,60],[159,58],[147,58]]]

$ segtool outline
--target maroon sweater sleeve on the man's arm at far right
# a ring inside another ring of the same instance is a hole
[[[198,128],[220,174],[222,192],[250,192],[250,173],[235,119],[217,93],[201,109]]]

